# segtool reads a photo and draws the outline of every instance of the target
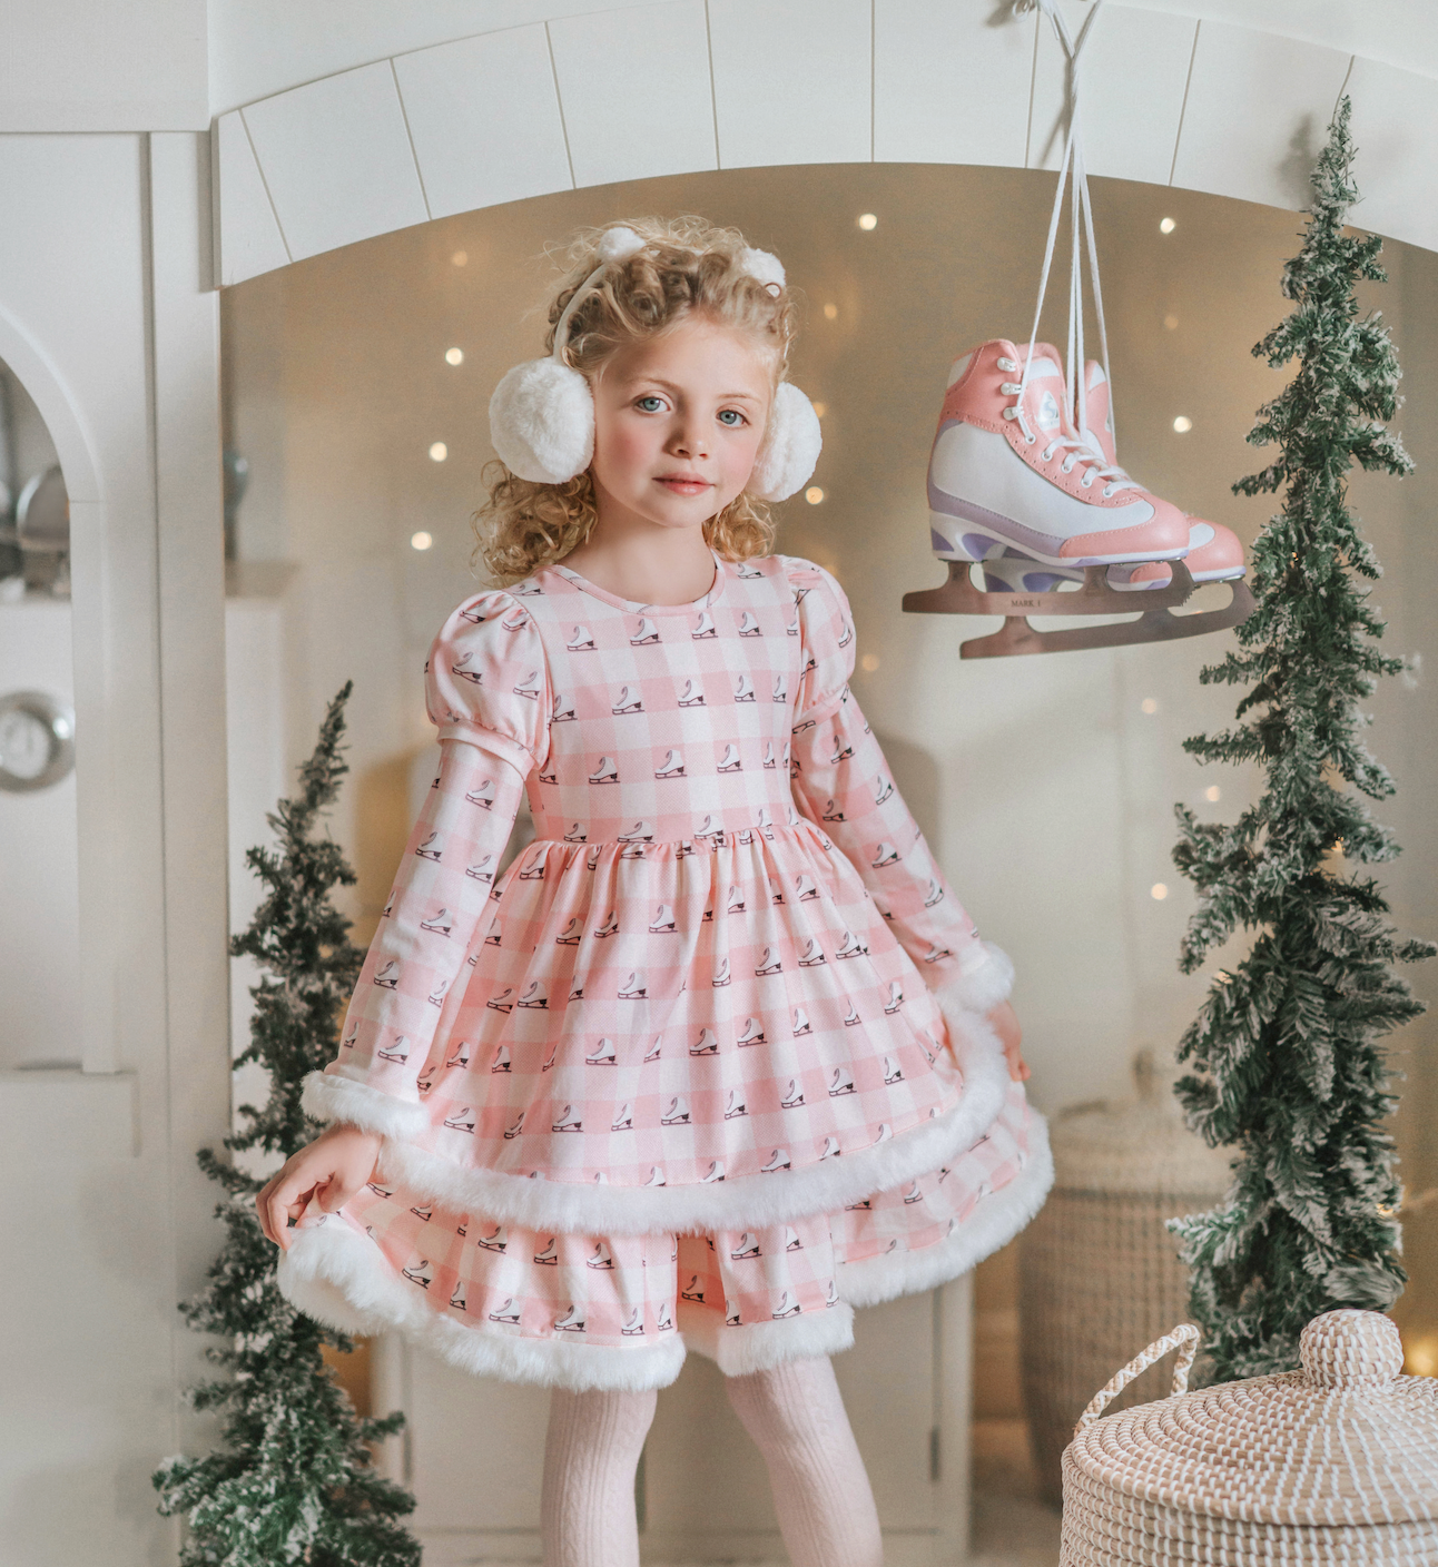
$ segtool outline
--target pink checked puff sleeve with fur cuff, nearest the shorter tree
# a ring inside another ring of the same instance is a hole
[[[487,932],[525,779],[545,760],[544,649],[515,595],[479,594],[450,616],[429,650],[425,696],[439,776],[365,954],[338,1056],[304,1091],[316,1120],[401,1139],[428,1127],[420,1072]]]

